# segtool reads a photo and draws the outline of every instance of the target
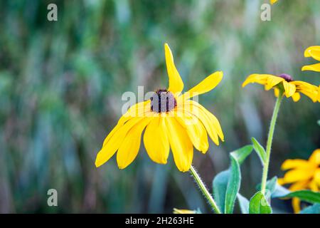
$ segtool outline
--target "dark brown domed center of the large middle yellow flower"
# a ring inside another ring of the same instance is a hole
[[[176,107],[176,99],[168,90],[156,90],[151,96],[151,110],[156,113],[169,112]]]

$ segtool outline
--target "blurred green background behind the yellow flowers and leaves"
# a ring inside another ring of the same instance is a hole
[[[319,85],[320,74],[300,71],[320,44],[320,1],[280,0],[272,21],[260,20],[267,0],[1,1],[0,212],[210,212],[188,173],[151,162],[142,145],[119,170],[114,157],[100,168],[95,156],[121,116],[122,93],[166,88],[164,43],[174,53],[185,88],[214,71],[222,83],[199,102],[223,127],[225,142],[210,143],[193,163],[210,188],[228,167],[228,153],[266,141],[274,96],[262,86],[241,88],[250,73],[289,73]],[[58,21],[47,6],[58,6]],[[319,103],[284,100],[275,132],[270,177],[287,158],[307,158],[320,146]],[[240,192],[251,197],[261,165],[242,165]],[[48,207],[47,191],[58,191]],[[272,204],[292,212],[289,201]]]

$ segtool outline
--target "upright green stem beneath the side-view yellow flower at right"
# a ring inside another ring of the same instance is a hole
[[[272,118],[270,123],[270,129],[269,129],[268,140],[267,140],[267,148],[266,148],[266,160],[265,160],[265,164],[263,165],[262,181],[261,181],[261,192],[263,195],[265,195],[265,187],[267,185],[267,177],[268,177],[268,169],[269,169],[269,163],[270,163],[270,154],[271,154],[271,145],[272,145],[274,127],[277,121],[277,116],[279,113],[279,108],[281,105],[282,98],[283,98],[283,95],[281,95],[280,93],[274,105],[274,110],[272,113]]]

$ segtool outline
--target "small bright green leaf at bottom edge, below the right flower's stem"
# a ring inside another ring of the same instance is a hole
[[[262,192],[257,192],[249,202],[249,214],[271,214],[272,209]]]

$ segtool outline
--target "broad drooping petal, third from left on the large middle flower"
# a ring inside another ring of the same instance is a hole
[[[166,135],[164,118],[154,118],[146,126],[144,132],[144,147],[151,160],[159,164],[166,164],[169,156],[169,140]]]

